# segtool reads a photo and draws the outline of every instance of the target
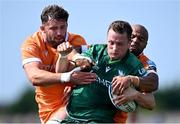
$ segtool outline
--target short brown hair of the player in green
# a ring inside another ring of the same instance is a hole
[[[109,25],[108,32],[110,29],[113,29],[113,31],[120,33],[120,34],[126,32],[128,39],[131,39],[132,28],[131,28],[131,25],[126,21],[121,21],[121,20],[113,21]]]

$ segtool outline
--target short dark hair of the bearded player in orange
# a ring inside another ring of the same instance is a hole
[[[46,23],[49,18],[56,20],[65,20],[68,21],[69,13],[58,5],[49,5],[45,7],[41,13],[41,22],[42,24]]]

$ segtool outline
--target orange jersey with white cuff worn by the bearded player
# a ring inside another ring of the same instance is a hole
[[[72,45],[84,45],[86,41],[80,35],[68,33],[67,41]],[[23,65],[29,62],[40,62],[46,71],[55,73],[55,64],[58,58],[56,49],[50,47],[44,42],[42,33],[36,32],[25,40],[21,47],[22,63]],[[36,102],[39,108],[39,117],[42,123],[46,123],[53,112],[62,108],[64,88],[71,84],[55,84],[51,86],[36,86]]]

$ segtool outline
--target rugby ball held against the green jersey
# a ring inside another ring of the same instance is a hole
[[[124,103],[124,104],[121,104],[121,105],[116,105],[114,103],[114,101],[113,101],[113,98],[116,98],[116,95],[112,94],[111,86],[109,86],[108,92],[109,92],[109,97],[110,97],[110,100],[111,100],[112,104],[118,110],[121,110],[121,111],[124,111],[124,112],[133,112],[133,111],[136,110],[137,104],[134,101],[130,101],[130,102],[127,102],[127,103]]]

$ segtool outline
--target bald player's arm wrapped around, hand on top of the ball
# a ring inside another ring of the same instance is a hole
[[[112,80],[113,92],[115,94],[122,93],[130,85],[133,85],[141,92],[153,92],[158,89],[158,75],[154,72],[148,72],[143,77],[128,75],[116,76]]]

